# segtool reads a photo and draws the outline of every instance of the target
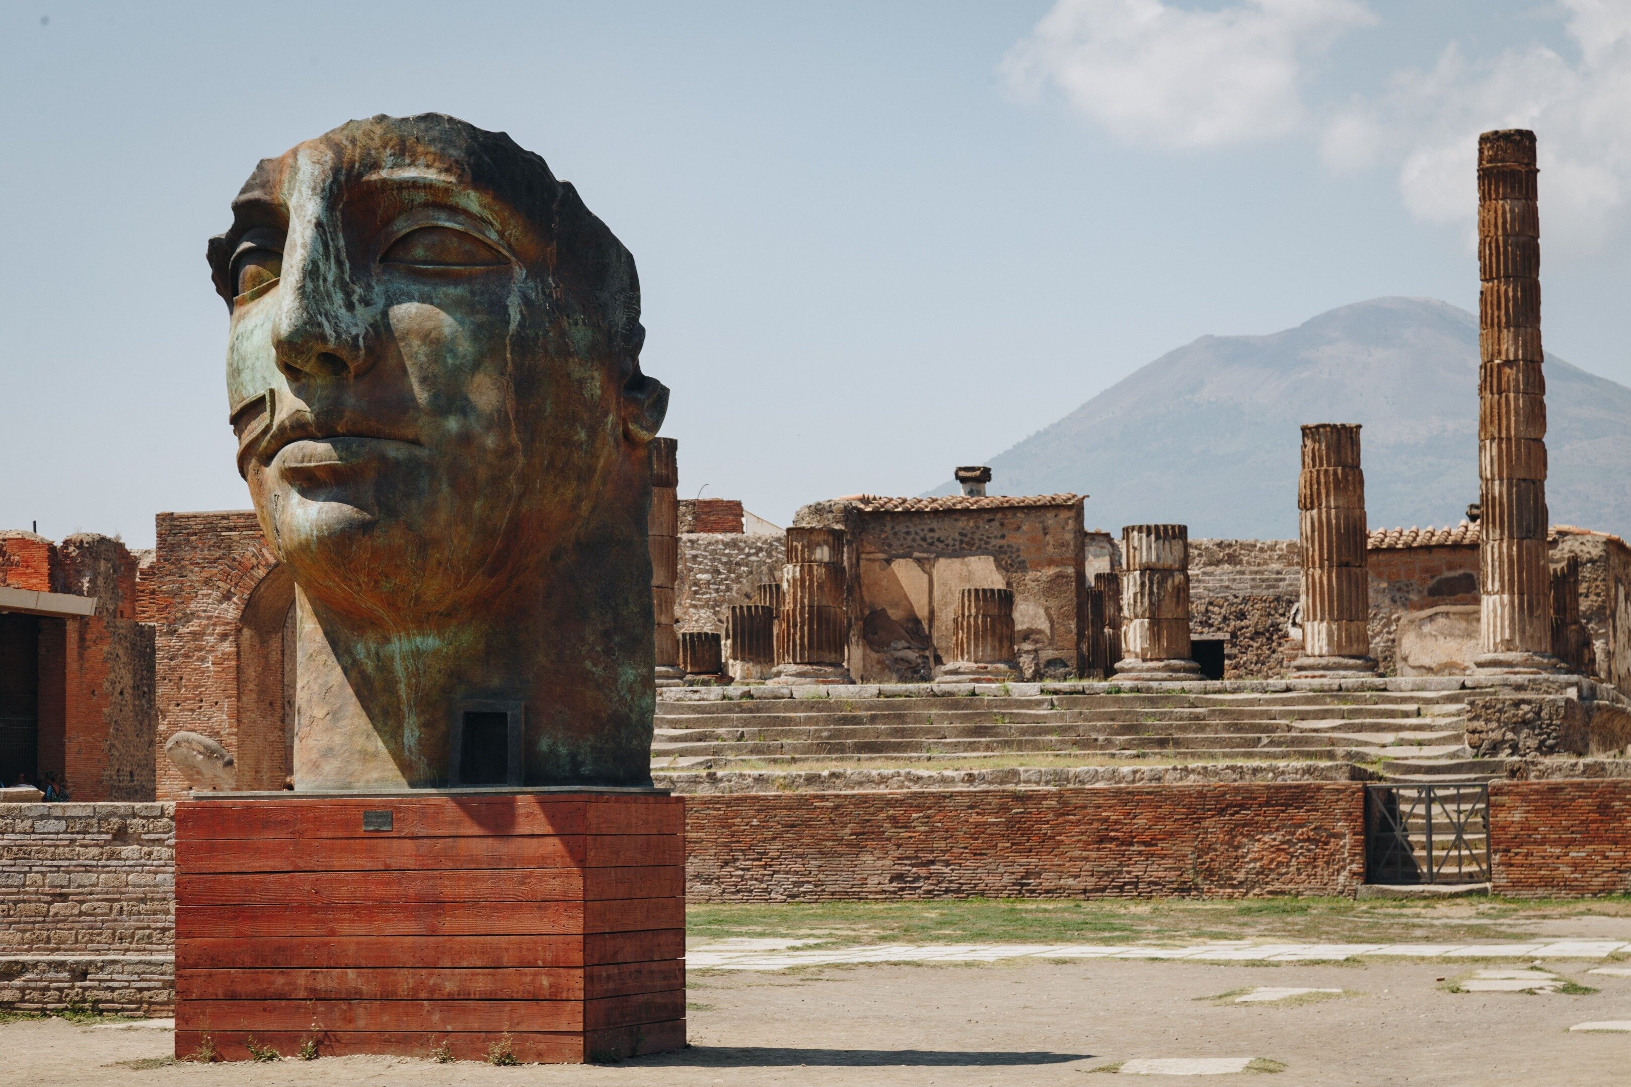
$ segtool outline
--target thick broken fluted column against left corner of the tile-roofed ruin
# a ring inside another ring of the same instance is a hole
[[[781,567],[781,639],[786,663],[771,683],[851,683],[843,667],[843,530],[789,528]]]

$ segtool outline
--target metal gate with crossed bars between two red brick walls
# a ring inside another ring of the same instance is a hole
[[[1487,883],[1489,786],[1365,786],[1367,883]]]

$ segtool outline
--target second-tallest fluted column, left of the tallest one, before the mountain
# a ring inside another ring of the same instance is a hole
[[[1372,673],[1377,662],[1370,655],[1368,533],[1359,424],[1303,427],[1297,510],[1303,544],[1303,655],[1292,662],[1292,675]]]

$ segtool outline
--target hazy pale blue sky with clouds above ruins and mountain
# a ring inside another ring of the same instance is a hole
[[[783,525],[1200,334],[1476,308],[1491,127],[1540,134],[1548,349],[1631,383],[1624,0],[13,2],[0,526],[246,507],[204,241],[258,158],[421,111],[577,184],[639,264],[682,497]]]

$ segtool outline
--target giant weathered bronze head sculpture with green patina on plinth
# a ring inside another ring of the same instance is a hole
[[[297,585],[297,789],[646,786],[634,261],[507,135],[352,121],[210,240],[238,469]]]

